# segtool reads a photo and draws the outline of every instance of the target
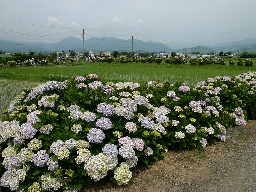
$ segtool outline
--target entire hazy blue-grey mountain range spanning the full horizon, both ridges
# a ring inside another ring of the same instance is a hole
[[[256,38],[244,39],[241,41],[234,42],[223,42],[210,46],[195,46],[191,48],[183,48],[174,50],[164,43],[158,43],[153,41],[141,41],[137,39],[117,39],[114,37],[101,37],[101,38],[89,38],[84,41],[85,51],[110,51],[114,52],[131,52],[133,47],[133,52],[164,52],[167,53],[191,53],[199,52],[203,54],[208,54],[210,52],[219,53],[220,51],[228,52],[231,51],[233,54],[241,54],[244,52],[256,53]],[[78,39],[73,36],[65,37],[62,41],[58,43],[44,43],[44,42],[23,42],[23,41],[13,41],[13,40],[0,40],[0,50],[11,53],[11,52],[29,52],[33,50],[36,53],[49,54],[54,51],[69,52],[69,50],[74,50],[76,52],[83,52],[83,40]]]

